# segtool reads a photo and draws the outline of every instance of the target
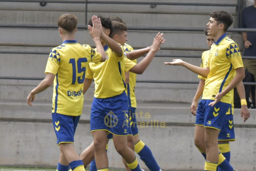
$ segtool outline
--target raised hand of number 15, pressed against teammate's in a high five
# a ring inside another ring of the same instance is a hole
[[[100,35],[102,33],[102,25],[100,18],[98,19],[97,16],[92,17],[92,26],[88,25],[88,30],[92,38],[100,38]]]

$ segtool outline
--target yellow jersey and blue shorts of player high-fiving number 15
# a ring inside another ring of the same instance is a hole
[[[120,45],[121,46],[121,45]],[[123,50],[123,46],[122,50]],[[106,130],[116,135],[128,135],[128,98],[124,82],[124,51],[118,57],[108,45],[104,46],[107,59],[89,64],[86,78],[94,79],[95,91],[91,109],[91,132]]]

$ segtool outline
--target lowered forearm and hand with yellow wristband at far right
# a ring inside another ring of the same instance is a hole
[[[244,84],[243,82],[239,82],[236,85],[237,93],[240,97],[240,99],[245,100],[245,90],[244,90]],[[247,108],[246,104],[241,104],[241,118],[244,118],[244,122],[250,117],[250,112]]]

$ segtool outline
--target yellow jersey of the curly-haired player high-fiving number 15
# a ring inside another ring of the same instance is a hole
[[[96,98],[114,97],[120,95],[126,89],[124,82],[124,49],[122,45],[120,46],[123,50],[121,57],[118,57],[114,51],[108,48],[108,45],[105,45],[106,61],[98,64],[90,63],[86,70],[85,77],[94,79],[94,97]]]

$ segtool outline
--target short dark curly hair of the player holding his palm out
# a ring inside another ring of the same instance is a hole
[[[228,30],[228,27],[231,26],[233,23],[233,17],[230,13],[226,11],[215,11],[212,12],[210,15],[212,18],[214,18],[218,23],[224,24],[224,31],[226,32]]]

